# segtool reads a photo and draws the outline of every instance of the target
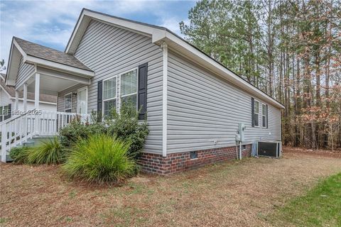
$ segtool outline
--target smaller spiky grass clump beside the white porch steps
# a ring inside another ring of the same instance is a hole
[[[28,148],[28,164],[59,164],[65,160],[65,148],[58,138],[43,141],[36,147]]]

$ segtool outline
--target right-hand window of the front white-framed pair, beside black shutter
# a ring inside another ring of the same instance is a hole
[[[121,103],[131,104],[137,109],[137,69],[121,74]]]

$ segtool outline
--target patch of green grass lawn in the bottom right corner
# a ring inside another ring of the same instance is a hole
[[[341,226],[341,172],[268,217],[275,225]]]

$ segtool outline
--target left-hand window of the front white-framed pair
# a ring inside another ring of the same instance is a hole
[[[103,116],[116,108],[117,77],[111,77],[103,81]]]

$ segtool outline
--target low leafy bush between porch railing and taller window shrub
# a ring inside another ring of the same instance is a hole
[[[66,147],[70,147],[79,139],[87,138],[89,135],[105,133],[105,131],[106,128],[102,123],[83,123],[80,117],[76,117],[67,126],[60,129],[59,135],[61,143]]]

